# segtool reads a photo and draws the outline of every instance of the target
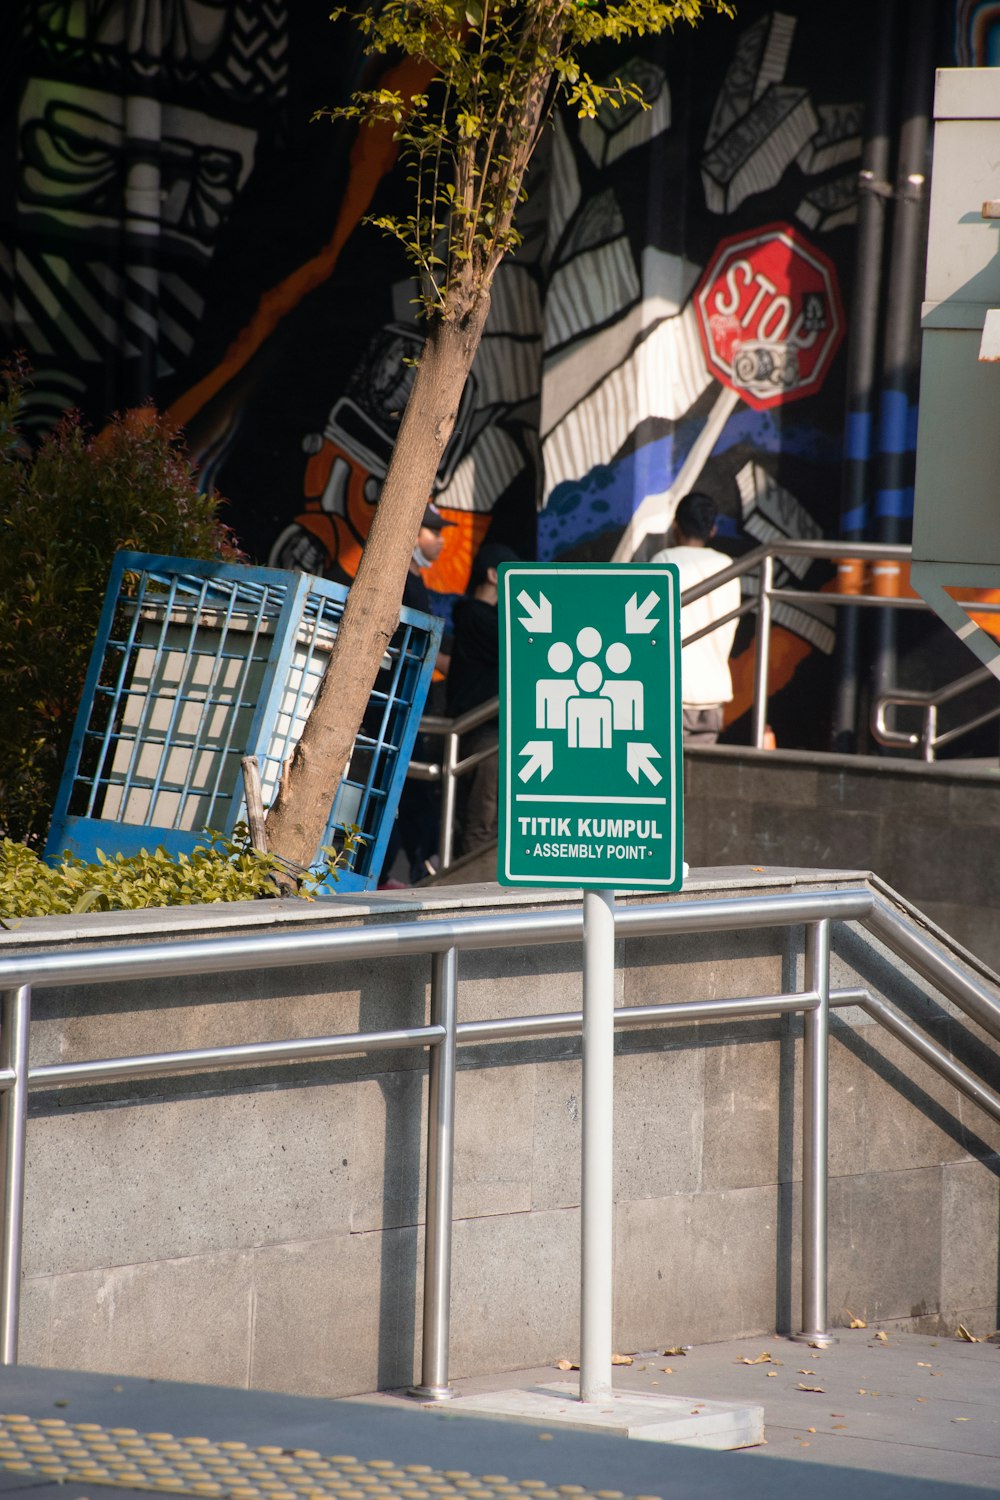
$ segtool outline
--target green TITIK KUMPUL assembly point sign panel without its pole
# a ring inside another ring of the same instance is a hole
[[[505,562],[499,638],[501,884],[679,891],[678,570]]]

